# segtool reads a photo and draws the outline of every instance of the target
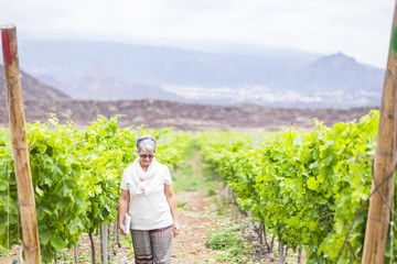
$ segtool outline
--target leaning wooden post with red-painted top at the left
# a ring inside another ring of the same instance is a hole
[[[0,28],[24,256],[28,264],[39,264],[41,263],[41,260],[37,219],[29,164],[28,140],[20,78],[21,73],[17,50],[17,29],[13,24],[6,24]]]

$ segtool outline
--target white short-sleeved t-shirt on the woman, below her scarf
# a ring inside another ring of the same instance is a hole
[[[128,166],[121,178],[121,189],[136,189],[137,183],[132,178],[133,166]],[[151,191],[149,195],[140,194],[132,195],[129,191],[130,204],[128,213],[131,217],[130,229],[135,230],[153,230],[165,228],[173,224],[171,208],[167,201],[164,194],[164,184],[172,185],[170,169],[159,164],[158,172],[153,175],[150,185]],[[127,228],[127,227],[126,227]]]

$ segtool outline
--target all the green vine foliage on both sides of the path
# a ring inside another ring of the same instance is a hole
[[[279,244],[305,252],[307,263],[335,262],[345,239],[337,263],[361,262],[368,204],[356,220],[355,216],[371,194],[377,111],[358,122],[326,128],[314,121],[313,131],[292,127],[256,134],[255,141],[248,132],[120,129],[117,121],[118,117],[99,117],[89,128],[76,129],[52,117],[47,123],[28,125],[43,260],[73,249],[83,233],[97,233],[100,224],[117,219],[120,177],[135,160],[135,139],[151,133],[158,139],[158,160],[171,168],[184,162],[194,142],[239,209],[259,222],[265,234],[276,235]],[[10,144],[8,130],[0,130],[4,248],[21,235]],[[387,262],[397,253],[390,249],[396,242],[395,238],[387,242]]]

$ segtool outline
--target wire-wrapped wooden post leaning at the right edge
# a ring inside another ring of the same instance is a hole
[[[384,90],[382,96],[379,130],[374,160],[374,174],[379,184],[394,174],[396,161],[396,76],[397,76],[397,6],[395,7],[390,47]],[[372,189],[375,189],[373,182]],[[386,201],[391,205],[394,175],[379,187]],[[383,198],[375,193],[369,200],[368,219],[365,231],[363,264],[383,264],[386,249],[390,211]]]

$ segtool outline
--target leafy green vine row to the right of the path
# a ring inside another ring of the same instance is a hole
[[[374,111],[332,129],[319,121],[313,132],[290,128],[255,151],[249,140],[233,134],[203,133],[198,141],[242,210],[251,211],[289,248],[307,251],[308,263],[335,262],[351,224],[337,263],[360,263],[367,204],[353,220],[371,194],[377,128]],[[386,256],[396,253],[388,242]]]

